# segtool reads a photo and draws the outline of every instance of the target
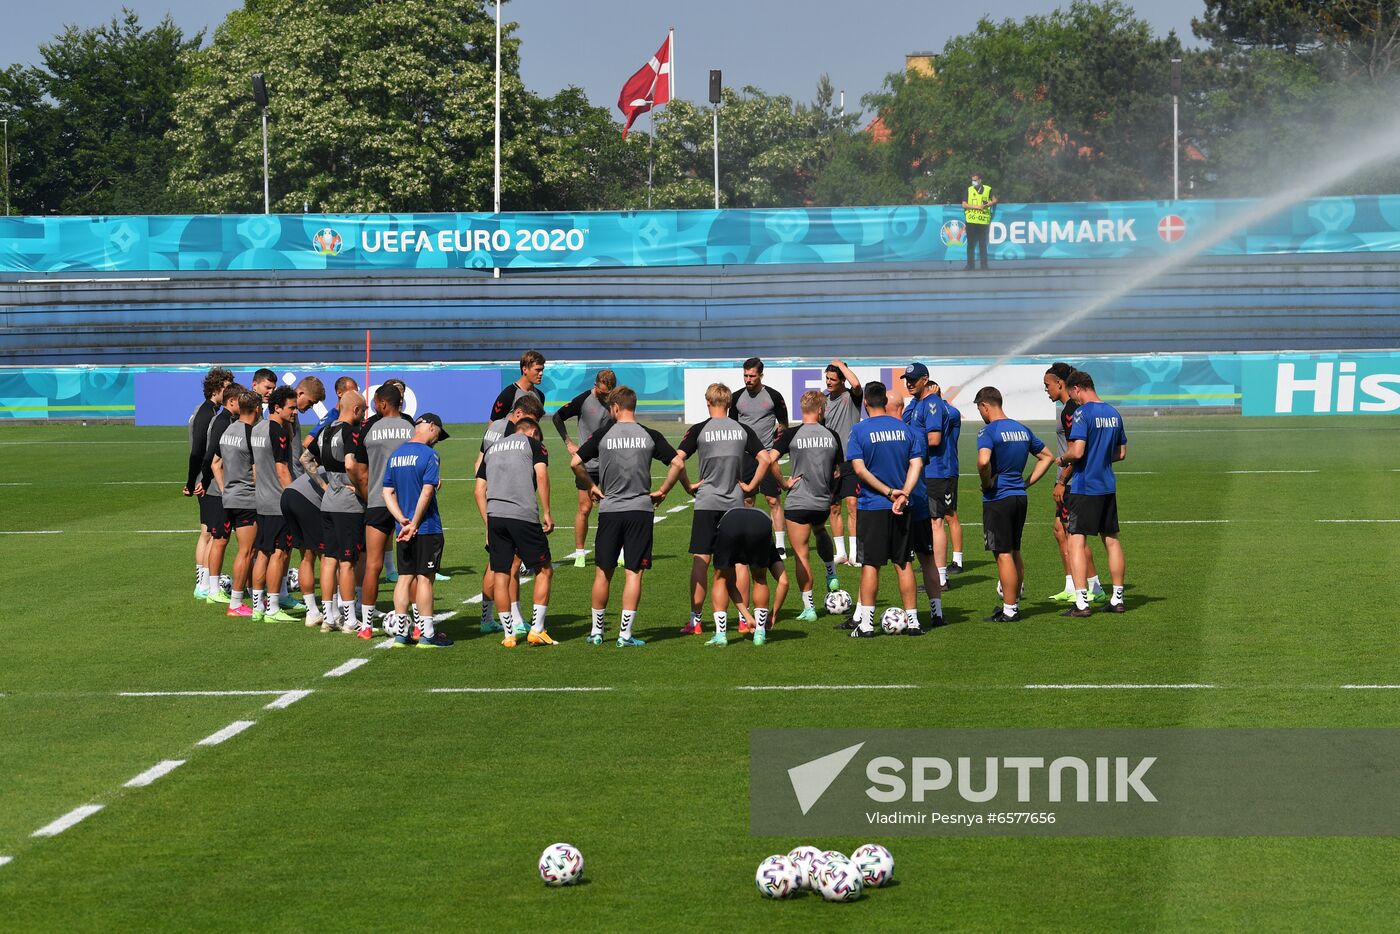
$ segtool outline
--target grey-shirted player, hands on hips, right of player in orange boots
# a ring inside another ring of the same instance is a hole
[[[641,646],[631,634],[641,602],[641,573],[651,567],[651,529],[655,504],[666,499],[672,483],[651,492],[651,462],[671,463],[676,449],[659,433],[637,424],[637,393],[617,386],[608,396],[615,424],[584,441],[570,466],[580,480],[588,479],[584,465],[598,458],[598,483],[589,494],[598,501],[598,573],[594,576],[592,627],[588,641],[602,646],[608,591],[619,555],[624,556],[627,580],[622,590],[622,629],[617,646]]]

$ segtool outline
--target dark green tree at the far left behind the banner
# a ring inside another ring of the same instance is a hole
[[[200,41],[186,41],[169,17],[144,29],[126,10],[41,45],[41,66],[0,73],[15,206],[32,214],[165,209],[172,155],[165,133],[185,81],[183,56]]]

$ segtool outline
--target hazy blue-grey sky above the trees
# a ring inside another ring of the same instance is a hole
[[[123,0],[4,0],[0,66],[34,62],[38,45],[64,24],[97,25]],[[186,32],[210,29],[239,3],[230,0],[125,0],[143,21],[167,11]],[[679,97],[703,99],[710,69],[722,69],[727,85],[755,84],[771,94],[811,99],[826,71],[846,91],[847,108],[881,87],[889,71],[903,67],[904,53],[938,50],[953,35],[967,32],[981,15],[994,20],[1049,13],[1054,0],[876,0],[869,4],[830,0],[514,0],[503,15],[519,22],[525,84],[553,94],[577,84],[598,105],[613,108],[622,83],[676,28]],[[1197,0],[1138,0],[1133,4],[1158,34],[1176,29],[1191,42]]]

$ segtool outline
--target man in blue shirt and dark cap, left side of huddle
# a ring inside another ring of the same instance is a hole
[[[433,629],[433,580],[442,566],[442,517],[437,490],[442,469],[433,449],[448,438],[442,420],[426,412],[413,421],[413,437],[389,455],[384,469],[384,506],[399,524],[399,580],[393,585],[393,616],[384,630],[393,647],[410,646],[412,623],[419,625],[419,648],[444,648],[452,640]],[[409,605],[414,618],[409,616]]]

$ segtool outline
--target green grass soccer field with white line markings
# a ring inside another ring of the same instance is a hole
[[[1130,413],[1126,615],[1070,620],[1044,599],[1063,585],[1046,483],[1030,492],[1025,619],[980,622],[995,581],[965,478],[967,571],[945,595],[949,626],[851,640],[830,616],[792,622],[792,592],[767,646],[722,650],[676,634],[679,489],[658,510],[645,647],[612,644],[620,576],[608,641],[584,641],[592,564],[556,571],[559,647],[480,636],[466,478],[482,426],[449,427],[454,577],[437,609],[458,611],[440,626],[458,643],[435,653],[196,604],[183,428],[0,430],[0,928],[1394,924],[1394,839],[755,837],[748,753],[750,728],[784,725],[1400,725],[1400,690],[1354,688],[1400,683],[1400,420]],[[679,424],[658,427],[679,438]],[[574,486],[549,435],[553,514],[568,527]],[[969,426],[965,471],[974,445]],[[552,542],[567,555],[571,531]],[[840,576],[854,591],[855,570]],[[893,595],[886,577],[879,606]],[[802,685],[826,688],[753,690]],[[560,688],[594,690],[547,690]],[[162,762],[182,765],[148,773]],[[83,805],[101,809],[50,826]],[[557,840],[582,850],[587,884],[539,882],[536,857]],[[753,889],[770,853],[867,842],[893,851],[897,884],[857,903]]]

